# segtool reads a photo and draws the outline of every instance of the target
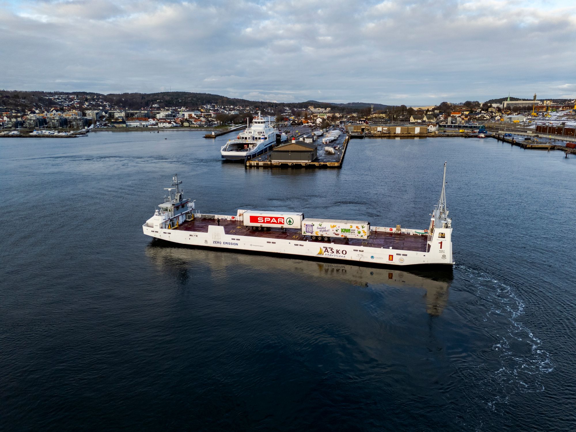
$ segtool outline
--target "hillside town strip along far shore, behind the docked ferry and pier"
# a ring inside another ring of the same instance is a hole
[[[512,123],[515,126],[564,127],[576,125],[576,100],[537,100],[505,97],[484,103],[442,102],[439,105],[407,107],[381,104],[328,104],[308,101],[282,104],[233,100],[230,103],[191,103],[182,93],[157,94],[147,105],[138,106],[125,98],[97,93],[0,92],[0,134],[25,134],[41,130],[128,130],[129,128],[218,128],[246,123],[259,112],[274,116],[276,122],[293,126],[325,128],[335,124],[426,126],[427,132],[442,127],[478,126],[485,123]],[[184,93],[198,95],[198,93]],[[124,96],[124,95],[120,95]],[[126,96],[130,96],[127,94]],[[154,96],[154,95],[149,95]],[[205,95],[210,96],[210,95]],[[214,95],[215,96],[215,95]],[[221,96],[204,97],[215,100]],[[198,98],[201,99],[201,98]],[[183,101],[184,103],[177,104]],[[423,128],[422,128],[423,129]],[[379,130],[382,132],[382,128]],[[13,133],[16,132],[16,133]],[[569,131],[568,136],[574,137]]]

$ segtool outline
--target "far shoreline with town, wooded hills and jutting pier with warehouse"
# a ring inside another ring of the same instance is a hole
[[[420,107],[282,104],[181,92],[103,95],[2,90],[0,96],[0,138],[200,129],[209,132],[206,138],[216,138],[248,127],[255,118],[266,118],[278,132],[275,143],[245,151],[240,158],[247,167],[256,168],[340,168],[350,139],[372,137],[493,137],[525,149],[562,150],[566,157],[576,153],[576,100],[537,100],[536,94],[532,99],[508,96],[484,103]],[[247,133],[252,133],[250,128]],[[227,154],[222,147],[222,158],[237,160],[238,149],[234,149],[236,153]]]

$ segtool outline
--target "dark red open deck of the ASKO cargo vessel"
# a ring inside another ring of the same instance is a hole
[[[200,233],[207,233],[209,225],[218,225],[215,219],[194,219],[194,221],[186,221],[180,225],[179,230],[196,231]],[[262,238],[281,238],[283,240],[298,240],[298,241],[313,241],[308,236],[302,236],[300,230],[286,229],[282,231],[280,228],[272,228],[270,231],[253,231],[248,227],[239,224],[237,221],[226,221],[220,219],[220,225],[224,227],[224,232],[236,236],[250,236]],[[349,238],[346,242],[345,238],[331,237],[329,241],[316,241],[318,243],[334,243],[334,244],[349,244],[351,246],[366,246],[373,248],[384,248],[402,250],[402,251],[415,251],[426,252],[427,237],[426,236],[411,236],[410,234],[396,234],[384,232],[370,232],[370,236],[365,240],[362,238]]]

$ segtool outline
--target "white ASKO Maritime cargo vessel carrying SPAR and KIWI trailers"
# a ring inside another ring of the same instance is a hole
[[[195,247],[223,248],[342,260],[367,265],[453,265],[452,219],[442,190],[427,229],[372,226],[368,221],[305,218],[303,213],[237,210],[235,215],[199,213],[184,198],[177,175],[168,196],[142,229],[144,234]]]

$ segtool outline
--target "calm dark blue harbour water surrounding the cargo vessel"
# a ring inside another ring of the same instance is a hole
[[[576,158],[365,139],[245,170],[224,140],[0,140],[0,429],[576,428]],[[142,234],[173,173],[206,213],[427,228],[445,160],[452,276]]]

